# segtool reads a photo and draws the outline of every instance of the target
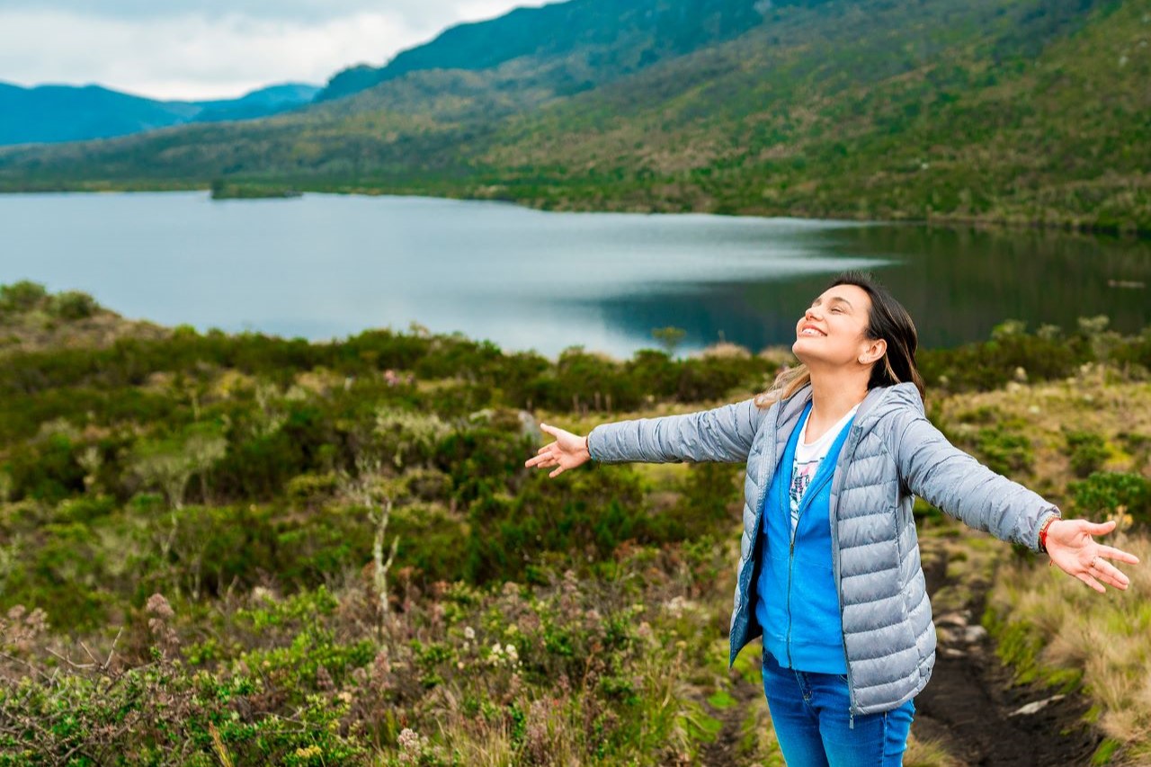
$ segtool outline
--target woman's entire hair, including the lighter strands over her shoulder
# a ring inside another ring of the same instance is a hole
[[[868,272],[843,272],[831,280],[828,288],[834,288],[837,284],[853,284],[867,293],[871,299],[871,311],[868,313],[867,328],[863,332],[872,341],[883,339],[887,342],[887,351],[883,355],[883,359],[871,365],[871,378],[868,379],[867,388],[909,381],[920,390],[920,398],[924,398],[923,377],[915,366],[915,351],[920,344],[920,336],[915,332],[912,316]],[[768,408],[772,402],[791,397],[810,380],[811,373],[807,365],[796,365],[780,373],[771,388],[755,397],[755,404]]]

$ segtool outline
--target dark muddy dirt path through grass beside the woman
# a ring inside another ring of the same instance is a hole
[[[944,556],[924,560],[928,591],[947,585]],[[1100,736],[1081,721],[1088,701],[1036,685],[1011,686],[980,617],[986,585],[968,605],[937,614],[942,629],[935,670],[915,699],[914,734],[932,738],[963,765],[1087,765]]]

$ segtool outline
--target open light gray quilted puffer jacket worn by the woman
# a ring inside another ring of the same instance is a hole
[[[684,416],[602,424],[588,434],[588,451],[601,463],[747,462],[731,663],[762,633],[755,584],[763,496],[810,398],[806,386],[768,409],[746,400]],[[915,495],[1032,550],[1044,521],[1059,515],[1052,503],[953,447],[924,416],[913,384],[868,392],[836,463],[830,504],[853,716],[910,700],[935,665],[935,625],[912,517]]]

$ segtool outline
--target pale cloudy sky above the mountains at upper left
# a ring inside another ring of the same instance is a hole
[[[0,82],[159,99],[322,85],[460,22],[542,0],[0,0]]]

